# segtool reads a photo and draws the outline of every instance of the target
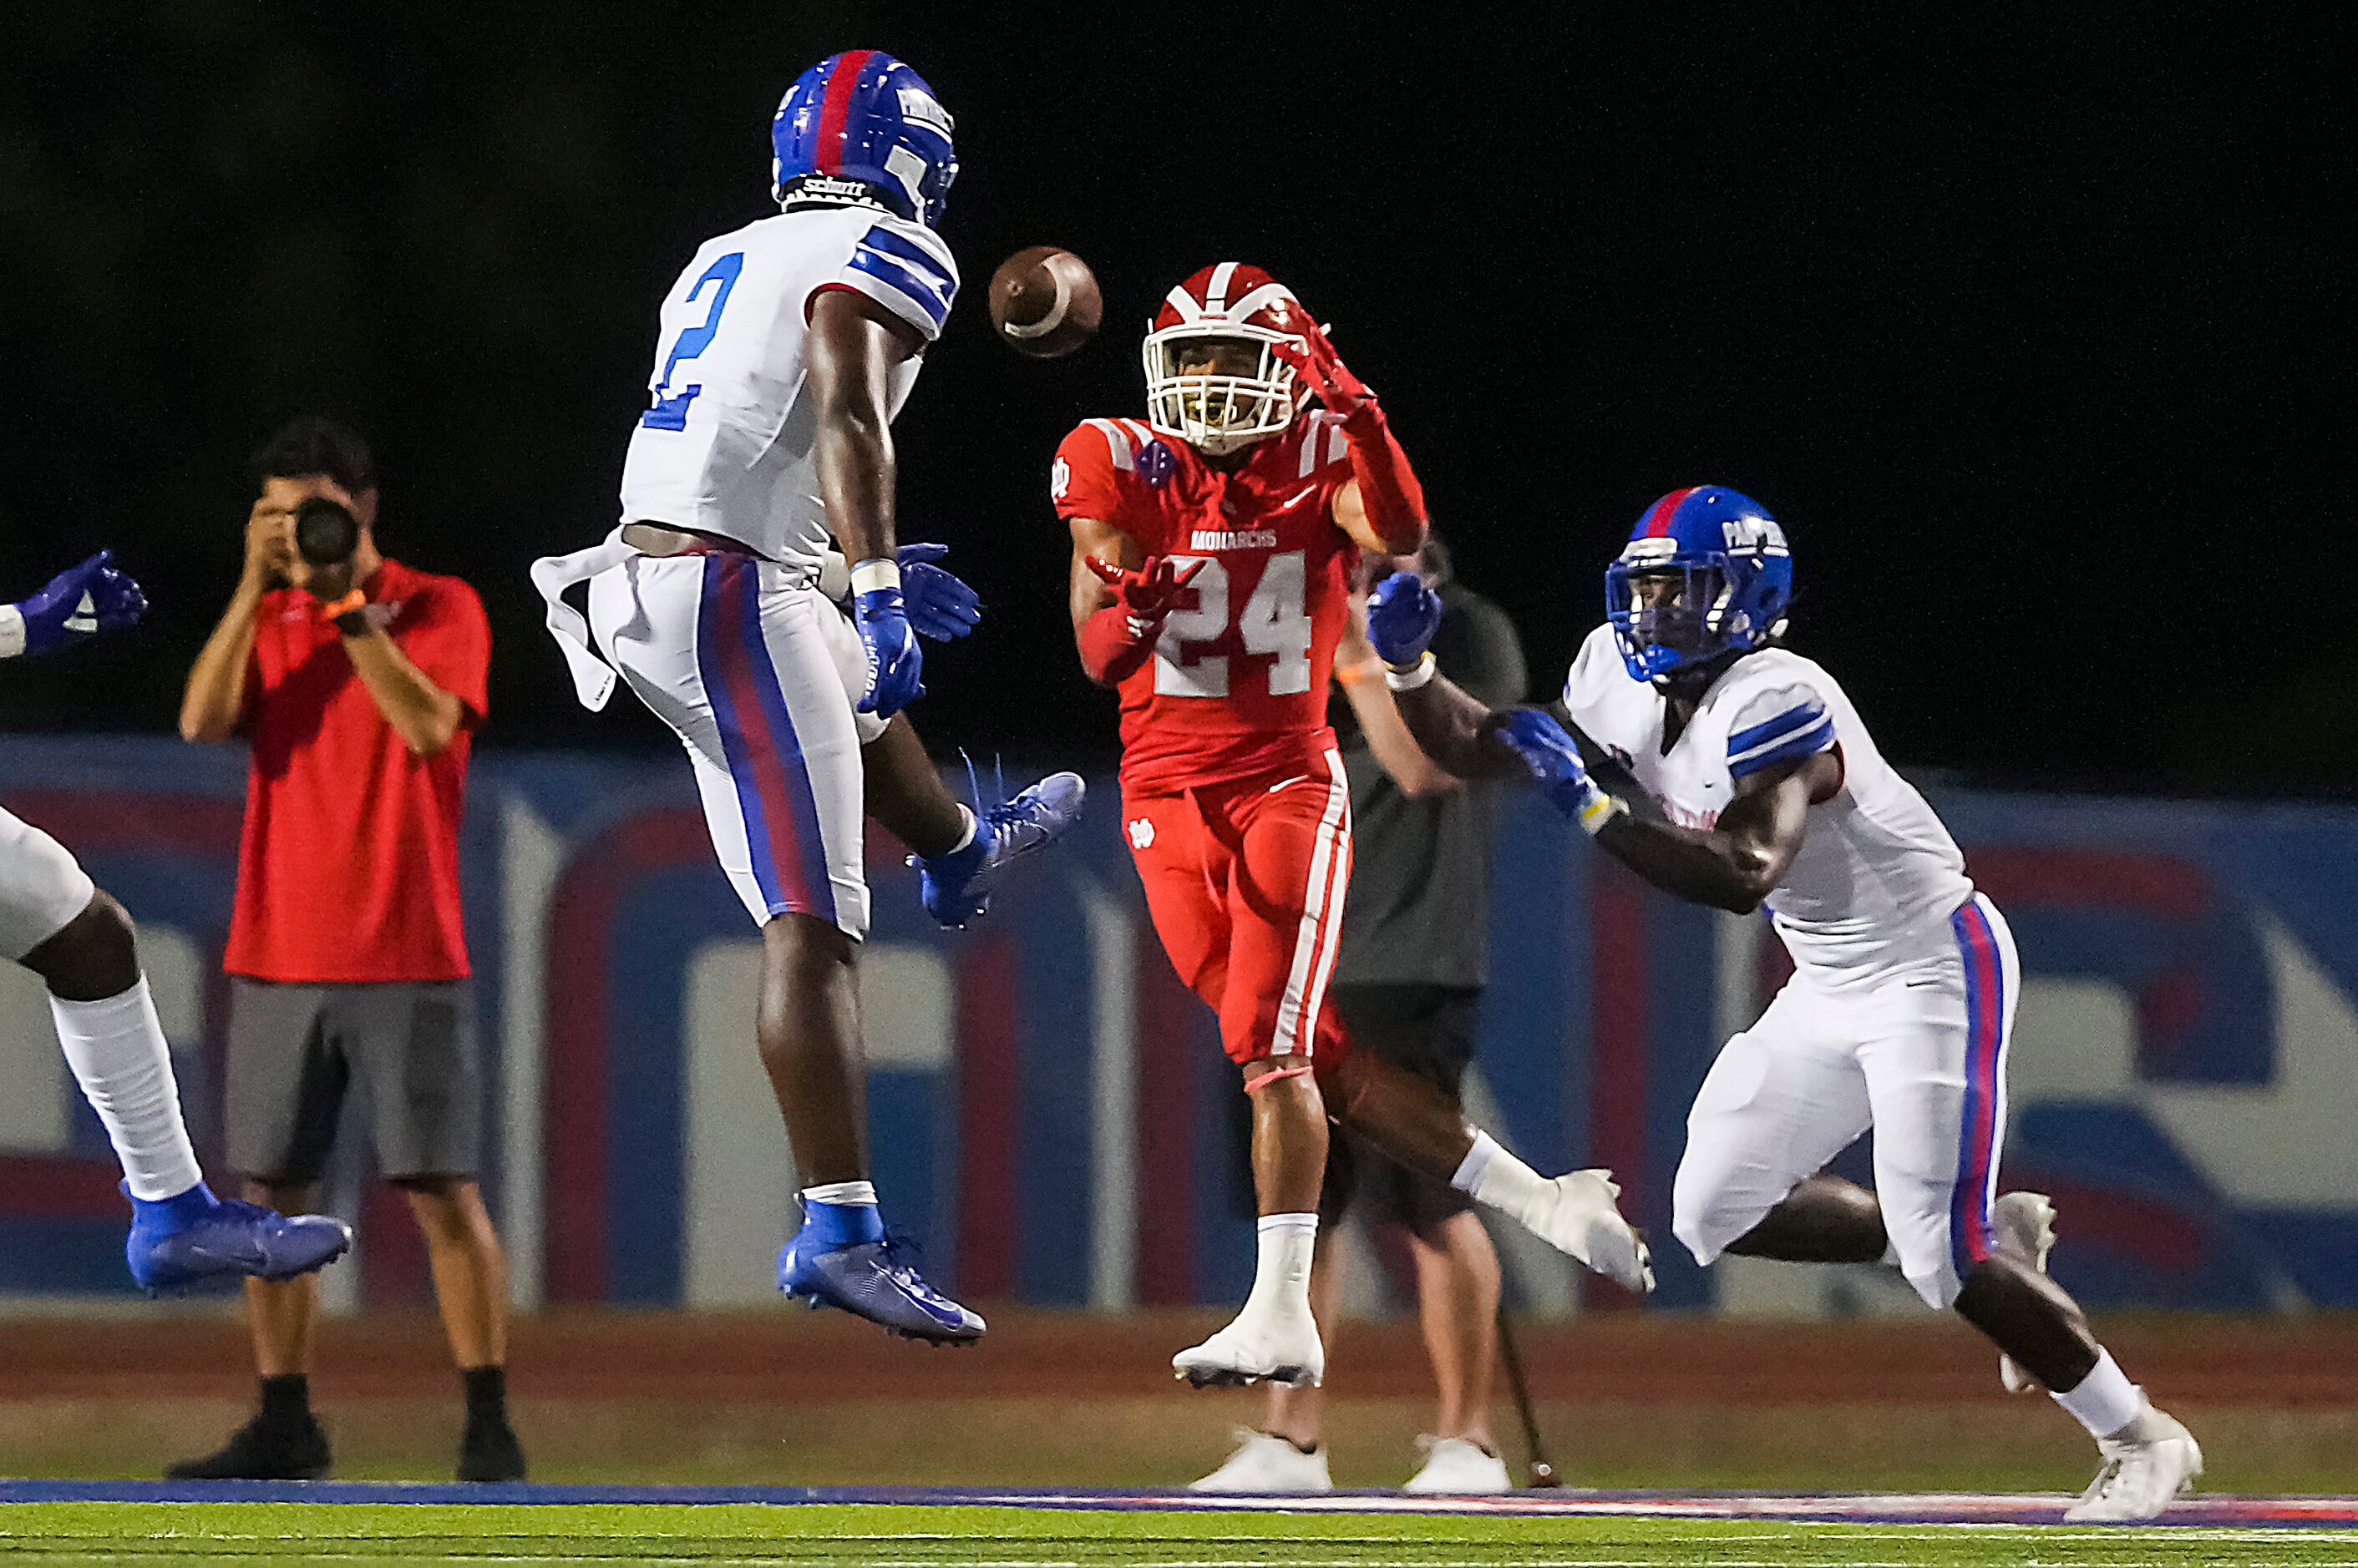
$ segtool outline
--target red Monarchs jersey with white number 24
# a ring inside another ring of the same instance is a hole
[[[1351,479],[1342,420],[1311,410],[1210,467],[1141,420],[1085,420],[1056,448],[1056,516],[1120,528],[1146,554],[1205,561],[1122,679],[1122,788],[1184,790],[1276,771],[1325,776],[1328,674],[1358,545],[1335,526]]]

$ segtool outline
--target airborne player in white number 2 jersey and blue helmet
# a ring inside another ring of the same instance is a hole
[[[957,295],[934,233],[957,174],[950,130],[880,50],[788,87],[771,125],[780,212],[707,241],[665,297],[623,526],[533,580],[582,703],[604,707],[620,670],[686,745],[722,870],[762,927],[755,1028],[804,1184],[778,1287],[964,1344],[983,1320],[917,1276],[868,1179],[863,790],[917,851],[927,908],[962,924],[997,868],[1071,825],[1080,778],[976,816],[896,717],[924,693],[913,627],[955,637],[974,615],[964,585],[910,561],[938,549],[894,542],[891,420]],[[830,556],[849,561],[849,618]],[[561,599],[580,580],[587,622]],[[946,613],[946,592],[962,606]]]

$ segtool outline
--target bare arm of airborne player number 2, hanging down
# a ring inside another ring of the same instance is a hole
[[[917,328],[849,288],[811,299],[804,368],[818,413],[818,498],[851,556],[894,559],[891,368],[924,342]]]

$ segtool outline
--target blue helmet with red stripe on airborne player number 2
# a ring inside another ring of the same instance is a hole
[[[884,50],[830,54],[795,78],[769,123],[771,193],[780,203],[842,196],[828,184],[858,182],[901,217],[938,229],[957,179],[950,130],[924,78]]]

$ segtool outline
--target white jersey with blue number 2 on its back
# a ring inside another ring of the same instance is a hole
[[[663,302],[653,398],[623,462],[625,523],[717,533],[818,571],[828,512],[802,340],[828,288],[868,295],[934,342],[957,297],[957,262],[924,224],[865,205],[797,207],[705,241]],[[913,356],[894,368],[891,415],[920,365]]]

